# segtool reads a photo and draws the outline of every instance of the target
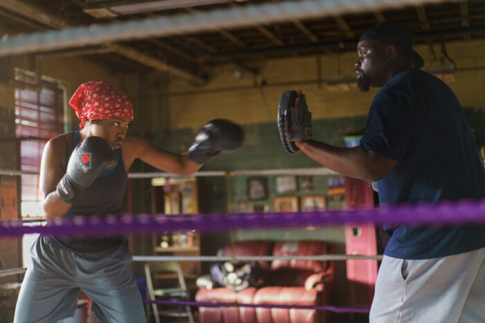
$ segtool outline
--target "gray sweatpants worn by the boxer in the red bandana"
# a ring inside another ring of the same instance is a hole
[[[77,254],[51,246],[40,236],[20,288],[15,323],[55,322],[73,317],[80,290],[91,297],[103,323],[146,322],[141,294],[123,243],[118,248]]]

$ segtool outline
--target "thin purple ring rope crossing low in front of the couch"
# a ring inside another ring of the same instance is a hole
[[[243,304],[243,303],[218,303],[218,302],[191,302],[191,301],[166,301],[143,299],[143,303],[160,305],[184,305],[184,306],[209,306],[209,307],[251,307],[251,308],[295,308],[302,310],[330,311],[335,313],[369,313],[368,307],[333,306],[333,305],[283,305],[283,304]]]

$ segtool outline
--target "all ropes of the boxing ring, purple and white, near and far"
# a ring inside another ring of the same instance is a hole
[[[64,30],[3,37],[0,40],[0,57],[24,53],[39,53],[88,45],[105,44],[110,41],[127,41],[142,37],[196,33],[217,28],[233,28],[249,24],[270,24],[288,19],[309,19],[342,15],[373,8],[389,9],[416,6],[424,3],[440,3],[442,0],[303,0],[281,1],[231,8],[193,12],[174,17],[155,17],[137,21],[122,21],[105,25],[91,25]],[[35,175],[17,169],[0,169],[0,176]],[[337,173],[323,167],[307,169],[236,170],[197,172],[192,176],[272,176],[317,175]],[[152,172],[132,173],[129,178],[173,177],[173,174]],[[228,194],[229,195],[229,194]],[[229,207],[230,209],[230,207]],[[37,222],[37,223],[36,223]],[[26,225],[28,223],[28,225]],[[178,232],[197,230],[202,233],[231,232],[267,228],[306,228],[344,225],[346,223],[375,223],[393,225],[464,225],[485,223],[485,201],[457,201],[438,204],[392,205],[357,210],[329,210],[322,212],[249,212],[215,214],[121,214],[109,216],[76,217],[72,220],[58,219],[46,225],[40,221],[0,221],[0,238],[22,237],[24,234],[151,234],[161,231]],[[133,261],[272,261],[276,259],[346,261],[382,259],[382,255],[315,255],[315,256],[143,256],[135,255]],[[21,275],[26,268],[0,270],[0,277]],[[166,306],[222,306],[248,308],[295,308],[331,311],[335,313],[368,313],[369,308],[358,306],[298,306],[283,304],[244,304],[224,302],[162,301],[144,299],[148,304]]]

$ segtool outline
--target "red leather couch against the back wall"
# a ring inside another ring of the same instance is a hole
[[[242,241],[224,247],[222,255],[292,256],[332,253],[321,241]],[[268,275],[265,286],[239,292],[227,288],[200,289],[197,302],[247,304],[324,305],[331,304],[334,280],[333,261],[274,260],[261,261]],[[200,323],[309,323],[325,322],[325,311],[285,308],[200,307]]]

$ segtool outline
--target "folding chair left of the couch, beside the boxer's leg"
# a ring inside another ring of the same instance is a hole
[[[176,288],[157,288],[153,286],[153,280],[155,280],[155,275],[157,273],[177,273],[179,280],[179,286]],[[179,297],[180,299],[190,300],[190,295],[188,294],[187,285],[185,284],[184,273],[182,273],[182,268],[177,261],[152,261],[150,263],[145,263],[145,276],[146,284],[148,288],[148,297],[151,300],[155,300],[155,297]],[[159,311],[157,304],[152,304],[153,314],[155,316],[155,322],[160,323],[160,315],[166,316],[183,316],[188,318],[189,323],[193,323],[193,315],[190,306],[185,306],[186,313],[175,314],[170,311]],[[182,314],[182,315],[181,315]]]

